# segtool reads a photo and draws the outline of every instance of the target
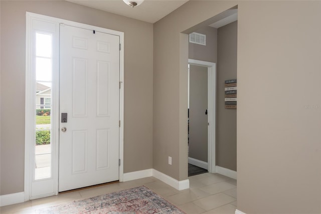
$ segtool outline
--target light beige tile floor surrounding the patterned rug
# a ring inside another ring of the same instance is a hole
[[[0,213],[36,213],[36,209],[39,208],[68,203],[141,185],[147,186],[186,213],[235,213],[236,180],[211,173],[194,175],[189,177],[189,179],[190,189],[181,191],[154,177],[146,177],[2,206]]]

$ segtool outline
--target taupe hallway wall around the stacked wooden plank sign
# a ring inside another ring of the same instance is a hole
[[[225,109],[224,81],[237,78],[237,21],[217,31],[216,165],[236,171],[236,109]]]

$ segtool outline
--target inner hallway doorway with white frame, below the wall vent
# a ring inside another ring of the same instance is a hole
[[[214,172],[216,64],[189,59],[189,176]]]

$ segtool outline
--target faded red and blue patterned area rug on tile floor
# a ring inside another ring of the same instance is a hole
[[[145,186],[38,209],[44,213],[185,213]]]

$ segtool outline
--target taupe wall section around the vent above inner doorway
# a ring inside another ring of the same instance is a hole
[[[217,29],[204,27],[195,31],[206,35],[206,46],[189,43],[189,59],[217,62]]]

